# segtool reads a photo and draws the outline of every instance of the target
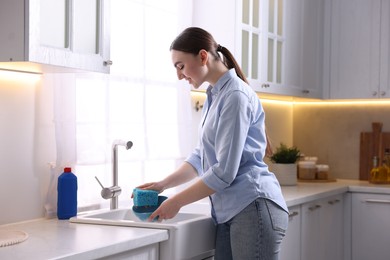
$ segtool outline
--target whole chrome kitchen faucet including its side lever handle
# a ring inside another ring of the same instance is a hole
[[[111,199],[110,209],[118,208],[118,196],[121,194],[122,189],[118,185],[118,145],[122,145],[129,150],[133,146],[133,142],[131,141],[122,141],[115,140],[112,143],[112,186],[109,188],[105,188],[99,179],[95,176],[95,179],[99,182],[102,187],[101,195],[104,199]]]

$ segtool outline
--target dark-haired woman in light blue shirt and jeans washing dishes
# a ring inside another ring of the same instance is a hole
[[[162,192],[199,179],[166,200],[150,220],[173,218],[184,205],[209,196],[217,224],[215,259],[278,259],[288,210],[263,161],[267,138],[260,100],[230,51],[205,30],[187,28],[170,50],[179,79],[194,88],[210,86],[198,147],[171,175],[139,188]]]

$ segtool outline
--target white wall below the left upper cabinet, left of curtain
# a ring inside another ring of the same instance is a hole
[[[55,154],[51,94],[39,80],[0,72],[0,224],[43,216]]]

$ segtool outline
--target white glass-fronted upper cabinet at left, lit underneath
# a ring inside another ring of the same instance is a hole
[[[107,0],[1,0],[0,68],[109,73]]]

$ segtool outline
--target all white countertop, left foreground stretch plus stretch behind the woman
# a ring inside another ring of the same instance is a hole
[[[298,182],[283,186],[287,206],[344,192],[390,194],[390,185],[367,181],[337,180],[327,183]],[[19,244],[0,247],[0,259],[94,259],[168,239],[167,230],[69,223],[67,220],[40,219],[0,226],[21,230],[29,238]]]

